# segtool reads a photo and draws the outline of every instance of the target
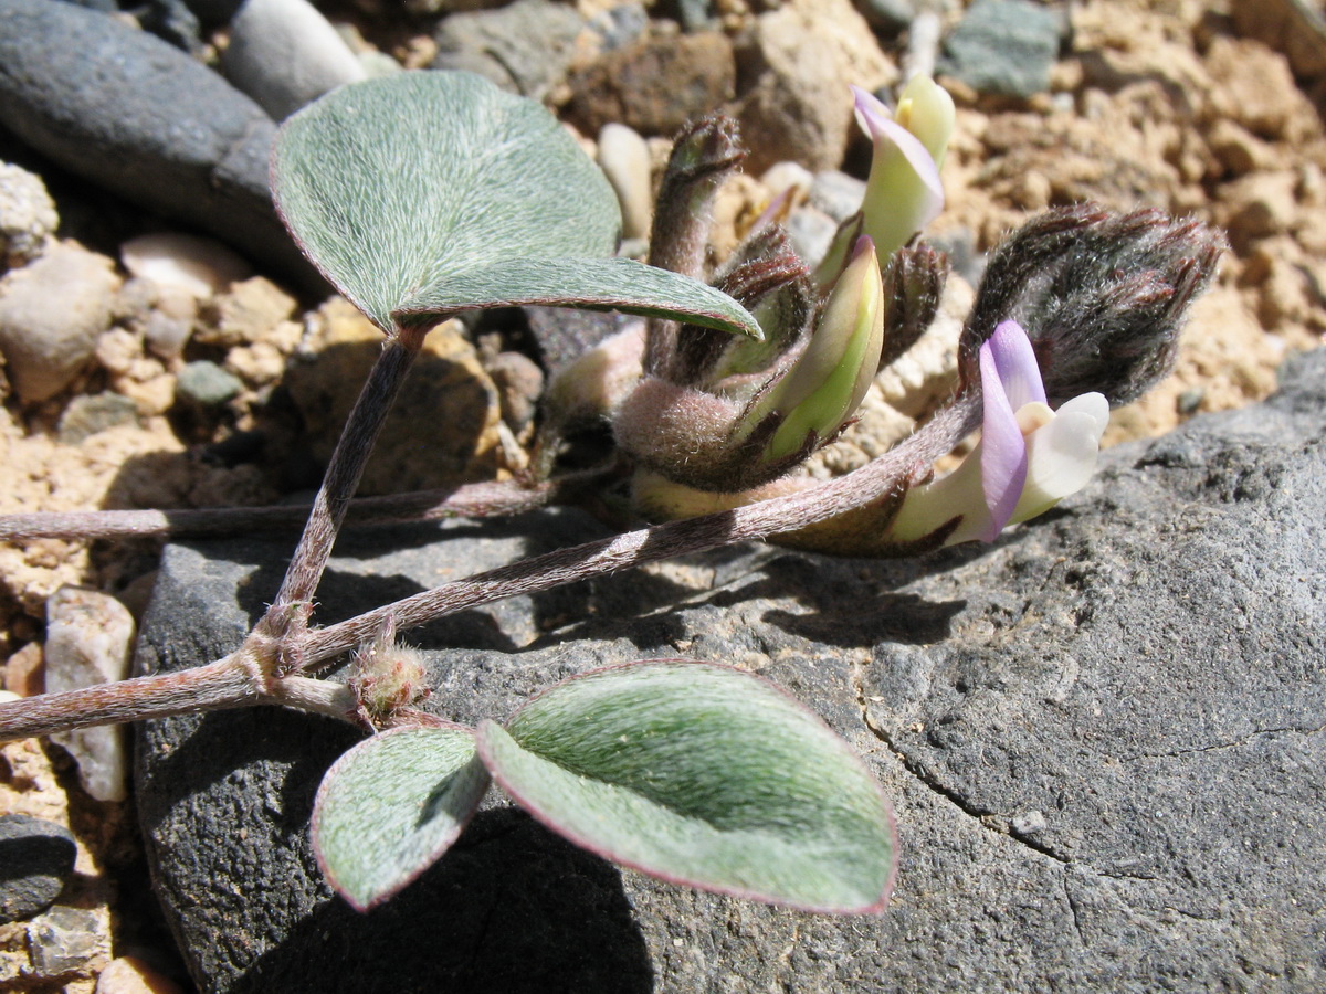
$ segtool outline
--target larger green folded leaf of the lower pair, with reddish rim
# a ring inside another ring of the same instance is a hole
[[[894,871],[878,783],[813,713],[749,673],[679,660],[574,677],[507,729],[495,779],[554,831],[672,883],[874,912]]]

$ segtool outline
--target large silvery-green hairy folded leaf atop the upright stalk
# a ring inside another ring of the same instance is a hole
[[[281,127],[272,175],[301,249],[387,333],[420,314],[538,302],[760,337],[736,301],[697,281],[625,260],[577,265],[615,250],[613,188],[542,105],[469,73],[332,91]]]

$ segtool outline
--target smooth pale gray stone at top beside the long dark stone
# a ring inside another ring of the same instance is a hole
[[[366,80],[363,65],[308,0],[245,0],[221,56],[225,76],[277,121],[334,86]]]

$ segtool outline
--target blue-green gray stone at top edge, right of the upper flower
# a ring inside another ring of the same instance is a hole
[[[1063,28],[1061,15],[1032,0],[979,0],[944,40],[939,70],[979,93],[1044,93]]]

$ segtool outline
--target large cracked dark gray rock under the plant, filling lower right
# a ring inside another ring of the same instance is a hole
[[[354,734],[278,712],[141,729],[167,914],[204,990],[1321,990],[1323,439],[1318,350],[1265,404],[1107,453],[1083,494],[994,546],[892,563],[717,550],[412,634],[434,705],[461,721],[678,652],[786,687],[895,799],[879,917],[672,888],[500,806],[355,916],[306,835]],[[320,618],[595,533],[549,513],[347,535]],[[292,545],[170,549],[141,663],[232,648]]]

